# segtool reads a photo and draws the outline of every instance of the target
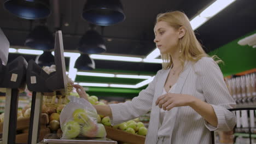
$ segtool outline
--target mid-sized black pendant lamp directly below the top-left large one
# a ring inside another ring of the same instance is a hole
[[[46,26],[37,26],[28,34],[25,46],[36,50],[54,49],[54,37]]]

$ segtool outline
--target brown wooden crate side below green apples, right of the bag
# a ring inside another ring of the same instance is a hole
[[[144,144],[146,136],[127,133],[126,131],[105,126],[107,138],[120,142]]]

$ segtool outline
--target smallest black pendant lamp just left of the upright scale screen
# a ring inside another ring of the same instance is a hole
[[[54,56],[51,55],[50,51],[44,51],[44,53],[40,56],[36,57],[35,62],[40,66],[51,66],[54,64]]]

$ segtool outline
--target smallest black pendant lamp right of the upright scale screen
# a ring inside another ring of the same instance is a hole
[[[74,68],[78,70],[93,70],[95,69],[94,59],[91,59],[87,54],[82,54],[75,61]]]

